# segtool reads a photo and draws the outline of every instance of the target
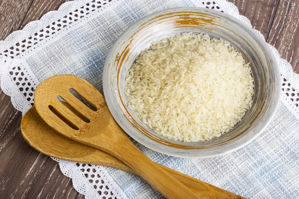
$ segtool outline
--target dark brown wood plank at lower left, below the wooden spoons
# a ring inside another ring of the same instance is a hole
[[[75,198],[77,192],[71,180],[61,174],[58,164],[22,138],[21,116],[14,110],[1,131],[0,198]]]

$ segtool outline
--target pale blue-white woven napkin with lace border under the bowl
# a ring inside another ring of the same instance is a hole
[[[4,51],[1,88],[23,113],[33,102],[36,86],[56,74],[82,77],[103,93],[105,58],[118,36],[152,12],[179,6],[213,7],[250,25],[232,3],[224,0],[70,1],[59,11],[46,14],[0,42],[0,52]],[[274,119],[253,142],[230,154],[204,159],[170,157],[134,143],[159,164],[243,197],[297,198],[299,111],[296,99],[299,98],[299,78],[292,72],[291,65],[280,59],[276,49],[272,47],[272,50],[280,64],[282,78],[286,80],[284,92]],[[126,172],[55,160],[62,172],[73,179],[75,189],[86,198],[162,198],[141,178]]]

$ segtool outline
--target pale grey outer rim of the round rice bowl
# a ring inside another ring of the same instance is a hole
[[[116,104],[114,104],[112,102],[112,97],[109,93],[109,82],[108,82],[108,67],[110,64],[111,60],[115,59],[115,56],[113,56],[114,52],[116,51],[118,44],[120,43],[120,41],[122,40],[123,37],[125,37],[125,35],[130,34],[130,32],[132,30],[137,30],[138,27],[141,24],[146,23],[149,19],[152,19],[156,16],[159,16],[160,14],[165,14],[165,13],[170,13],[170,12],[176,12],[176,11],[199,11],[199,12],[208,12],[208,13],[212,13],[212,14],[216,14],[216,15],[220,15],[221,17],[227,18],[229,20],[231,20],[232,22],[236,23],[237,25],[241,26],[243,29],[245,29],[246,31],[250,32],[251,37],[254,40],[257,40],[261,45],[261,47],[264,48],[264,51],[267,52],[269,59],[271,59],[274,62],[274,65],[272,65],[272,68],[276,69],[275,71],[278,73],[276,74],[277,77],[280,77],[280,70],[279,70],[279,65],[277,63],[277,60],[272,52],[272,50],[270,49],[268,43],[266,43],[266,41],[251,27],[249,27],[248,25],[244,24],[242,21],[240,21],[239,19],[217,11],[217,10],[211,10],[208,8],[202,8],[202,7],[176,7],[176,8],[168,8],[168,9],[164,9],[164,10],[160,10],[157,12],[154,12],[152,14],[149,14],[145,17],[143,17],[142,19],[136,21],[133,25],[131,25],[127,30],[125,30],[120,36],[119,38],[115,41],[114,45],[112,46],[112,48],[110,49],[106,61],[105,61],[105,65],[104,65],[104,71],[103,71],[103,90],[104,90],[104,96],[106,99],[106,103],[113,115],[113,117],[116,119],[116,121],[118,122],[118,124],[125,130],[126,133],[128,133],[134,140],[138,141],[139,143],[141,143],[142,145],[157,151],[159,153],[162,154],[166,154],[166,155],[170,155],[170,156],[174,156],[174,157],[182,157],[182,158],[207,158],[207,157],[215,157],[215,156],[219,156],[219,155],[224,155],[227,153],[230,153],[232,151],[235,151],[245,145],[247,145],[248,143],[250,143],[251,141],[253,141],[257,136],[259,136],[264,130],[265,128],[268,126],[268,124],[271,122],[272,118],[274,117],[274,114],[279,106],[279,100],[280,100],[280,96],[281,96],[281,78],[277,78],[277,84],[279,85],[278,91],[273,95],[272,100],[274,101],[273,104],[273,111],[269,113],[268,110],[268,118],[266,120],[266,122],[264,123],[264,126],[260,129],[259,132],[256,132],[254,135],[251,135],[249,137],[248,140],[245,139],[241,139],[238,142],[234,142],[232,143],[231,147],[229,149],[225,149],[223,151],[218,151],[216,154],[195,154],[195,155],[190,155],[188,153],[186,153],[187,151],[190,150],[195,150],[195,149],[176,149],[181,151],[181,153],[177,153],[177,152],[172,152],[171,150],[166,150],[163,151],[162,149],[160,149],[159,147],[154,146],[153,144],[151,144],[150,142],[146,141],[145,139],[141,139],[140,137],[138,137],[135,133],[131,132],[131,130],[123,123],[122,119],[119,118],[120,114],[117,113],[117,111],[113,111],[113,109],[115,108]],[[130,34],[131,35],[131,34]],[[266,56],[266,55],[265,55]],[[122,117],[124,117],[122,115]],[[132,126],[130,124],[130,126]],[[152,140],[153,141],[153,140]],[[155,142],[155,141],[153,141]],[[171,146],[166,146],[164,145],[164,147],[169,148],[173,148]],[[163,148],[163,147],[162,147]]]

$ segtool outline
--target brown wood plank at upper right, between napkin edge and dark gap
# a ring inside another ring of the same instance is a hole
[[[234,3],[239,9],[239,13],[250,20],[252,27],[267,38],[279,0],[228,1]]]

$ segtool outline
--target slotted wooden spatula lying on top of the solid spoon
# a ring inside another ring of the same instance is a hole
[[[73,96],[71,89],[96,111]],[[79,116],[57,97],[77,110]],[[113,155],[165,198],[199,198],[135,147],[111,115],[103,95],[87,81],[73,75],[53,76],[38,85],[34,102],[38,114],[49,126],[70,139]]]

